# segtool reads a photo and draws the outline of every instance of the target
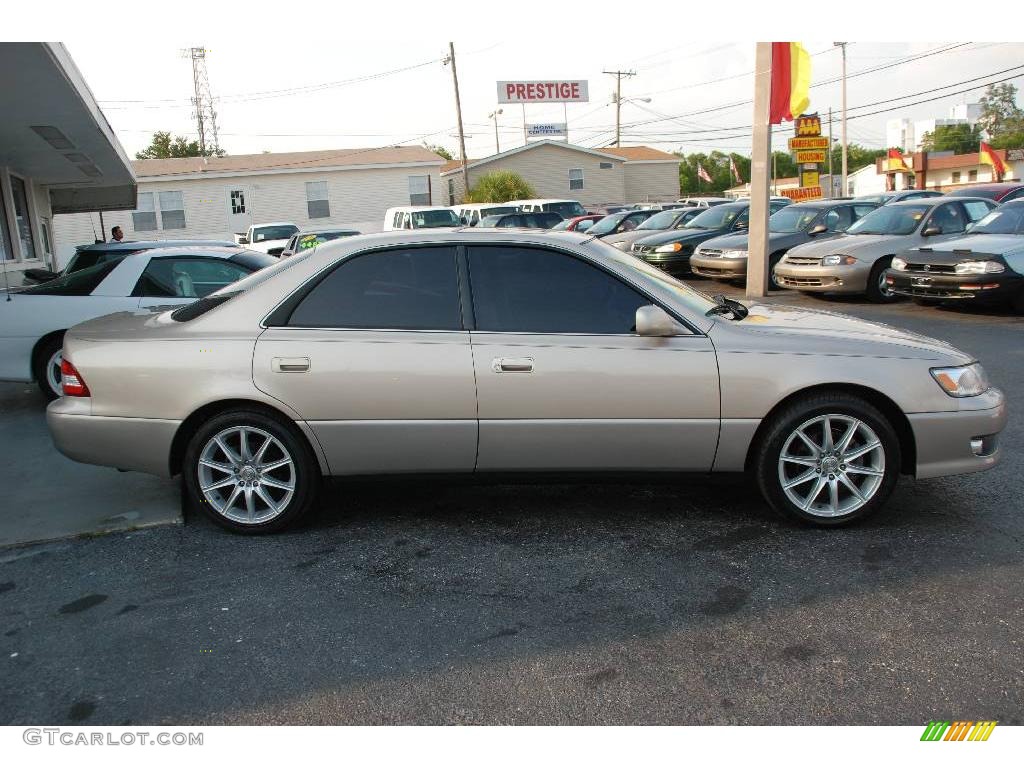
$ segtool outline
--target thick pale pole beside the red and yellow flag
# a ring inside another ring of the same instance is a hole
[[[754,66],[754,136],[751,154],[751,223],[746,296],[768,294],[768,174],[771,172],[771,43],[757,43]]]

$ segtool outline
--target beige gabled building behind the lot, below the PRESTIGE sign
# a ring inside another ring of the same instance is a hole
[[[538,198],[578,200],[585,206],[596,206],[678,199],[679,163],[675,155],[649,146],[591,150],[549,139],[470,160],[466,167],[470,188],[486,173],[512,171],[534,187]],[[441,184],[443,204],[463,202],[461,163],[444,165]]]

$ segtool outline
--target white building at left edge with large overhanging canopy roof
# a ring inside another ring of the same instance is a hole
[[[20,285],[54,265],[54,214],[132,208],[135,178],[67,48],[2,43],[0,72],[0,267]]]

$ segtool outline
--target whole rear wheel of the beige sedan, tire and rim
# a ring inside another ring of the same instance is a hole
[[[183,473],[191,501],[217,524],[246,534],[296,522],[312,507],[321,482],[305,438],[283,420],[249,411],[222,414],[200,428]]]

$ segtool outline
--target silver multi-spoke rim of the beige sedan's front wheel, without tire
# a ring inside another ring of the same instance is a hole
[[[860,509],[885,474],[885,449],[874,430],[842,414],[805,421],[786,438],[778,459],[778,480],[786,498],[820,517]]]

